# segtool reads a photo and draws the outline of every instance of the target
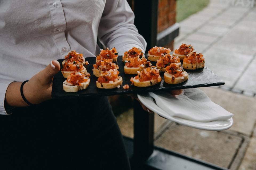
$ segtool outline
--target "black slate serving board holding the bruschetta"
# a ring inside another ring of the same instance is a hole
[[[145,54],[147,58],[147,54]],[[95,57],[88,57],[85,58],[86,61],[90,63],[90,65],[85,65],[87,72],[91,74],[91,81],[89,87],[85,90],[80,90],[78,92],[65,92],[62,87],[62,83],[66,80],[61,71],[59,71],[53,78],[53,90],[52,90],[52,97],[53,98],[76,98],[76,97],[90,97],[90,96],[111,96],[117,94],[129,94],[129,93],[143,93],[143,92],[150,92],[150,91],[159,91],[159,90],[172,90],[172,89],[185,89],[185,88],[196,88],[196,87],[209,87],[209,86],[220,86],[225,84],[221,79],[218,78],[209,68],[204,67],[202,69],[197,70],[186,70],[189,74],[189,79],[185,82],[180,84],[167,84],[164,82],[163,72],[160,73],[162,77],[162,81],[159,84],[150,87],[136,87],[132,86],[130,82],[130,78],[134,77],[135,75],[127,75],[124,73],[124,63],[122,62],[122,56],[118,56],[117,64],[119,66],[118,71],[119,76],[123,78],[123,85],[128,84],[130,86],[129,89],[123,89],[121,86],[120,88],[114,89],[99,89],[96,87],[97,77],[93,75],[93,64],[95,63]],[[62,60],[58,60],[61,64]],[[156,62],[151,62],[152,65],[156,65]],[[62,68],[62,64],[61,64]]]

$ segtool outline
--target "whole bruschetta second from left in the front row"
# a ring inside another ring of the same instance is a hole
[[[96,81],[96,86],[98,88],[116,88],[120,87],[123,83],[123,78],[121,76],[118,76],[119,71],[116,69],[109,71],[103,71],[100,75],[98,80]]]

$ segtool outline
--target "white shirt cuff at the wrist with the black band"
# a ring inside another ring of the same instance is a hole
[[[0,114],[10,114],[11,112],[5,108],[5,93],[6,90],[14,80],[0,79]],[[12,109],[12,108],[11,108]],[[11,110],[10,109],[10,110]]]

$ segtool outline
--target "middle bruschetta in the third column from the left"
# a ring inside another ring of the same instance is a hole
[[[146,58],[140,59],[139,57],[129,57],[125,62],[125,74],[137,74],[137,71],[141,71],[152,65]]]

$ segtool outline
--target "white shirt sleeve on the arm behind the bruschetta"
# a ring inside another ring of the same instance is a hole
[[[99,40],[119,55],[132,48],[146,49],[145,39],[134,25],[134,13],[126,0],[107,0],[98,29]]]

